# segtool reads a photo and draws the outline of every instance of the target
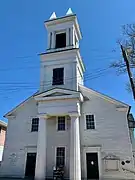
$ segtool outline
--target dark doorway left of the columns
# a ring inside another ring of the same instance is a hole
[[[26,177],[35,176],[35,166],[36,166],[36,153],[27,153],[27,161],[26,161],[26,169],[25,169]]]

